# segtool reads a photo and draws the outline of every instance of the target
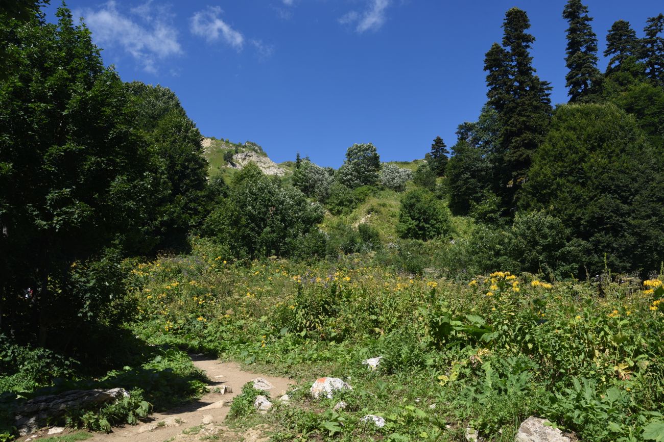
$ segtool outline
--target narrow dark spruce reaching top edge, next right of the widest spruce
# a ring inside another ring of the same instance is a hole
[[[597,36],[590,26],[592,18],[588,17],[588,7],[581,0],[568,0],[562,18],[569,23],[565,58],[569,72],[565,80],[570,102],[574,102],[587,97],[600,80]]]

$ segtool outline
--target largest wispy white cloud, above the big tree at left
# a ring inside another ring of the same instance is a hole
[[[92,30],[92,38],[102,48],[120,48],[137,61],[143,70],[157,72],[157,64],[169,56],[181,54],[177,29],[163,7],[147,1],[123,13],[114,0],[98,9],[76,11]]]

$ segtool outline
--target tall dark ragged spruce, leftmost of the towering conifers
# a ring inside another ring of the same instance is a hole
[[[485,58],[488,104],[500,123],[494,186],[505,208],[514,205],[551,113],[551,87],[533,68],[530,50],[535,37],[526,32],[530,27],[525,11],[516,7],[507,11],[502,48],[494,43]]]

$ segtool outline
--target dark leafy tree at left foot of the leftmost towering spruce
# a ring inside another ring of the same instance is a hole
[[[466,141],[453,148],[454,155],[447,166],[445,186],[450,195],[450,210],[466,215],[473,203],[479,203],[491,183],[491,163],[487,151]]]

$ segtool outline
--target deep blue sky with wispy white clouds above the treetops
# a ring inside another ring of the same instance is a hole
[[[59,0],[52,0],[50,18]],[[566,101],[564,0],[68,0],[122,80],[170,87],[201,133],[339,166],[373,142],[422,158],[486,101],[483,58],[505,11],[531,19],[540,78]],[[586,0],[604,50],[618,19],[639,36],[661,0]],[[600,61],[604,70],[606,62]]]

